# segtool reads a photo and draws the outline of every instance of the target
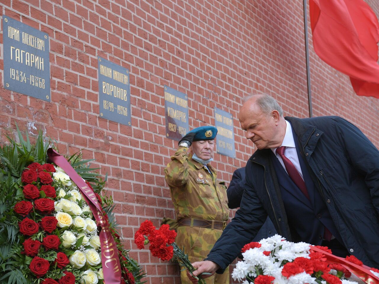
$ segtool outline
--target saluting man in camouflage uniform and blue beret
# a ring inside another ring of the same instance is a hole
[[[217,179],[213,160],[217,129],[203,126],[191,130],[164,169],[171,190],[178,221],[176,243],[188,254],[190,262],[207,257],[221,236],[229,217],[224,182]],[[228,284],[229,270],[205,279],[207,284]],[[182,284],[191,283],[186,271],[181,272]]]

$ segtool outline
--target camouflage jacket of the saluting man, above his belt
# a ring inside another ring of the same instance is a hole
[[[229,208],[224,182],[217,180],[215,168],[207,165],[211,175],[191,154],[187,157],[187,151],[188,148],[179,147],[164,169],[177,219],[226,221]]]

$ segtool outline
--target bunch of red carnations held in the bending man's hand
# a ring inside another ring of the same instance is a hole
[[[150,244],[149,250],[152,255],[162,260],[170,260],[175,256],[179,265],[185,267],[192,274],[195,268],[189,262],[188,255],[175,243],[175,237],[176,232],[170,230],[169,225],[163,224],[159,229],[156,229],[151,221],[145,220],[135,233],[134,242],[139,249],[144,249],[145,245]],[[194,277],[199,279],[198,283],[205,284],[204,279]]]

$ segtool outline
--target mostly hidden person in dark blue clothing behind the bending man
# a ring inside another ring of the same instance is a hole
[[[236,169],[226,191],[228,207],[235,209],[240,207],[243,191],[245,189],[245,167]],[[262,228],[258,231],[252,242],[259,242],[262,238],[268,238],[276,234],[276,229],[270,218],[267,218]],[[241,256],[240,256],[241,257]],[[242,258],[242,257],[241,257]]]

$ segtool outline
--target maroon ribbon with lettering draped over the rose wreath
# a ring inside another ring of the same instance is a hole
[[[121,282],[121,266],[118,256],[116,242],[109,230],[109,224],[104,220],[103,210],[97,201],[94,191],[86,184],[86,182],[78,175],[74,168],[67,162],[66,158],[58,152],[49,148],[47,150],[49,160],[55,165],[60,166],[72,181],[78,186],[85,201],[88,203],[96,219],[97,226],[101,227],[100,245],[101,245],[101,262],[103,266],[104,283],[120,284]]]

